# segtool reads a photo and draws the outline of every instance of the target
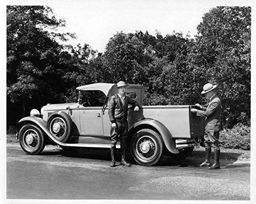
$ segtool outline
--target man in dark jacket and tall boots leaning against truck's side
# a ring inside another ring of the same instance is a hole
[[[115,149],[118,138],[120,138],[121,146],[121,165],[131,166],[130,163],[125,161],[125,154],[127,148],[127,137],[128,137],[128,104],[131,104],[134,108],[134,111],[139,110],[139,104],[136,100],[130,98],[127,95],[124,95],[124,88],[127,85],[125,82],[118,82],[117,89],[118,93],[111,96],[110,98],[110,108],[109,108],[109,117],[111,121],[111,167],[115,167]]]

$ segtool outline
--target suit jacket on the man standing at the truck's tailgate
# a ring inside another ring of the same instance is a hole
[[[197,116],[206,117],[205,132],[221,131],[221,100],[217,95],[214,95],[207,107],[202,107],[203,110],[197,110]]]

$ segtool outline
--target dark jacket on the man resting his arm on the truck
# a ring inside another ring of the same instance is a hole
[[[111,96],[109,116],[110,116],[110,121],[112,123],[115,122],[116,119],[127,120],[128,104],[131,104],[132,106],[138,106],[139,107],[138,102],[136,100],[130,98],[127,95],[125,95],[125,97],[124,97],[124,105],[122,103],[121,98],[117,94]]]

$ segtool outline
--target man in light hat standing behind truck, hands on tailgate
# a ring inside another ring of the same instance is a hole
[[[208,169],[219,169],[220,168],[220,147],[219,147],[219,137],[221,131],[221,100],[215,94],[215,88],[217,85],[212,86],[212,84],[205,84],[203,87],[202,94],[205,94],[209,99],[207,107],[202,107],[196,104],[201,110],[191,109],[191,112],[197,113],[197,116],[206,117],[205,132],[207,135],[204,136],[205,144],[205,161],[200,164],[200,166],[208,166]],[[211,145],[214,148],[215,162],[210,166],[210,154]]]

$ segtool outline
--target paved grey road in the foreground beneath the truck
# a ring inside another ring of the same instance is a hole
[[[65,151],[57,146],[30,156],[7,146],[7,198],[249,200],[250,164],[221,160],[221,169],[164,157],[158,166],[109,167],[108,149]]]

